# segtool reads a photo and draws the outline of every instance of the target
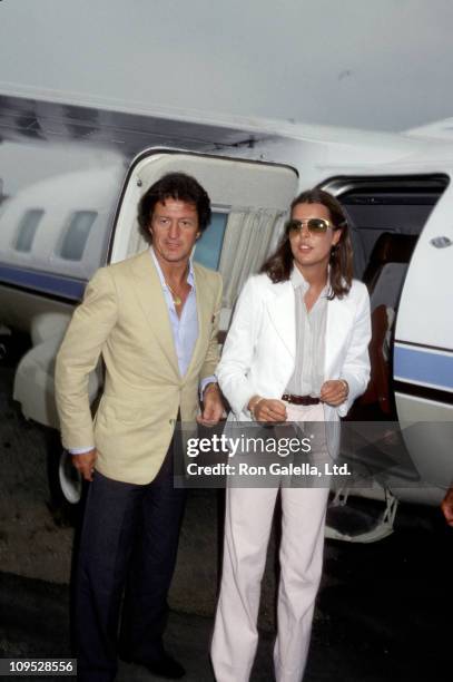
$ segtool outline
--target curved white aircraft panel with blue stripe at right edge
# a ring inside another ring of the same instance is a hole
[[[439,504],[453,481],[453,188],[418,237],[396,318],[393,374],[420,498]],[[397,491],[404,498],[404,490]]]

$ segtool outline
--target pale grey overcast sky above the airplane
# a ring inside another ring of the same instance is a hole
[[[453,111],[451,0],[0,0],[0,94],[405,130]]]

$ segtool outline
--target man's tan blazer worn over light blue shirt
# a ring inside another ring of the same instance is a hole
[[[96,469],[147,484],[157,475],[180,409],[193,421],[199,381],[215,372],[221,277],[194,264],[198,339],[185,377],[149,251],[98,270],[57,357],[56,396],[63,446],[95,445]],[[88,377],[102,354],[104,393],[92,420]]]

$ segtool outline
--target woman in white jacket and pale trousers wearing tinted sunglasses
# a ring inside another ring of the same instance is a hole
[[[339,203],[304,192],[276,253],[248,280],[217,369],[229,420],[338,421],[370,378],[370,301],[352,279]],[[331,448],[329,448],[331,449]],[[332,454],[332,450],[331,450]],[[256,646],[274,488],[229,487],[224,567],[213,639],[218,682],[246,682]],[[317,593],[328,488],[282,487],[277,682],[302,680]]]

